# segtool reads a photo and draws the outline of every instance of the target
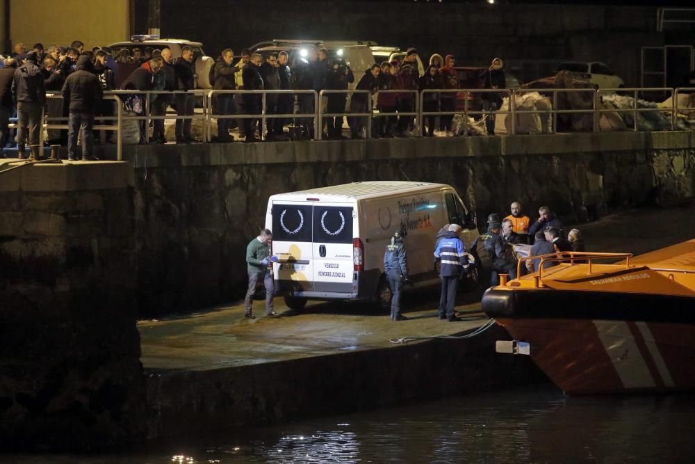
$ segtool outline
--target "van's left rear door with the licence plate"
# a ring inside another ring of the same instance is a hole
[[[313,202],[275,200],[272,204],[272,253],[278,290],[313,290]]]

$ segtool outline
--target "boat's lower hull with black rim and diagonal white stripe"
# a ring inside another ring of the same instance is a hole
[[[489,289],[482,309],[568,394],[695,387],[694,298]]]

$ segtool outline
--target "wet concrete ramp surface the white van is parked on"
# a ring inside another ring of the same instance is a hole
[[[587,251],[646,253],[695,237],[695,208],[639,209],[575,225]],[[569,231],[571,227],[566,227]],[[437,317],[439,290],[406,294],[407,321],[364,303],[310,302],[296,313],[275,298],[279,317],[263,316],[263,301],[254,302],[257,319],[243,317],[243,301],[195,314],[140,321],[142,363],[147,371],[203,371],[240,365],[309,358],[389,346],[400,337],[460,335],[481,326],[480,294],[459,295],[457,312],[464,321]]]

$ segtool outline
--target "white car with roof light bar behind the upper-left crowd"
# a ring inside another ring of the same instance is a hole
[[[111,48],[113,58],[117,58],[122,49],[128,49],[133,53],[134,48],[139,48],[143,52],[145,48],[152,47],[155,50],[171,49],[174,61],[181,56],[183,47],[193,49],[193,60],[195,61],[196,88],[212,88],[210,84],[210,70],[215,65],[215,60],[211,56],[206,56],[203,45],[200,42],[192,42],[184,39],[161,39],[157,35],[133,35],[131,40],[126,42],[116,42],[108,47]],[[119,63],[119,80],[125,80],[137,65],[125,65]],[[122,70],[122,72],[121,72]],[[120,82],[117,83],[120,86]]]

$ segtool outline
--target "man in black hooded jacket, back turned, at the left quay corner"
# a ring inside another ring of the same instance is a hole
[[[94,74],[94,65],[88,55],[81,55],[77,60],[76,71],[65,79],[63,98],[70,105],[70,121],[67,134],[67,159],[76,161],[77,134],[82,131],[82,161],[95,161],[92,156],[94,145],[95,109],[101,102],[101,83]]]

